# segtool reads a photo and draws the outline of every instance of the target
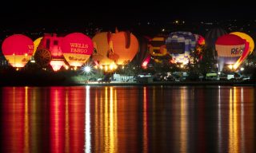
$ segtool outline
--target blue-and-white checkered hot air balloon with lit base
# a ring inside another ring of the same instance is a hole
[[[188,64],[190,51],[195,48],[196,39],[190,32],[170,33],[166,39],[166,48],[175,63]]]

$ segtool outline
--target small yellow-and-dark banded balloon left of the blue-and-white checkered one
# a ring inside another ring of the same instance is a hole
[[[165,56],[166,50],[166,37],[153,37],[149,43],[150,54],[152,56]]]

